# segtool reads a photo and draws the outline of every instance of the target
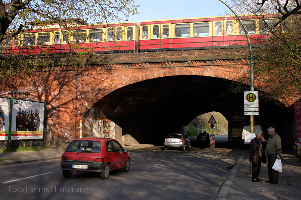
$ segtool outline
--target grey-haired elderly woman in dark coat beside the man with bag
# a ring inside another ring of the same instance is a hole
[[[250,163],[252,166],[252,181],[260,182],[258,178],[260,173],[261,163],[266,163],[265,160],[265,140],[262,137],[261,131],[255,132],[256,138],[251,139],[249,146]]]

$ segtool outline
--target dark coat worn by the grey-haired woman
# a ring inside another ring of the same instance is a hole
[[[260,139],[261,141],[261,139]],[[266,163],[265,160],[265,143],[261,142],[262,145],[262,163]],[[249,154],[250,154],[250,162],[252,164],[258,165],[258,158],[259,158],[259,141],[257,138],[253,138],[250,141],[249,146]]]

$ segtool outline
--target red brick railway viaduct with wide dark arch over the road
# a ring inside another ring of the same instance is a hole
[[[114,121],[116,139],[128,144],[163,145],[168,133],[181,132],[211,111],[235,124],[234,116],[244,116],[243,94],[229,90],[250,71],[248,60],[238,57],[227,49],[116,53],[99,55],[100,62],[82,60],[75,70],[45,66],[27,96],[45,102],[44,139],[36,141],[63,145],[79,138],[81,130],[83,137],[92,136],[95,118]],[[255,87],[259,84],[265,83],[256,80]],[[20,88],[8,88],[2,97],[26,99]],[[275,127],[289,143],[292,104],[260,98],[255,121]],[[249,116],[245,122],[249,125]]]

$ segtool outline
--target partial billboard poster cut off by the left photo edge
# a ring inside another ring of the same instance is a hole
[[[8,140],[11,99],[0,98],[0,140]]]

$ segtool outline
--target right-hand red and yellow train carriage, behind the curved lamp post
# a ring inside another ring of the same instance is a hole
[[[241,16],[253,44],[262,43],[257,16]],[[235,16],[141,21],[140,52],[247,45]]]

